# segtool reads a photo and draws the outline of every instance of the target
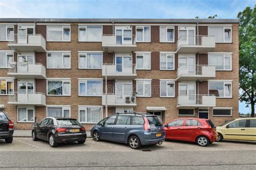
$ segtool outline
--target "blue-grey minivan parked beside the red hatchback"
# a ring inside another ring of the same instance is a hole
[[[161,144],[165,140],[164,125],[155,115],[118,113],[91,128],[95,141],[109,140],[129,144],[133,149],[141,145]]]

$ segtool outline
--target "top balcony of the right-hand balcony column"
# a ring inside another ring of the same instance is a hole
[[[215,48],[214,36],[180,36],[177,53],[207,53]]]

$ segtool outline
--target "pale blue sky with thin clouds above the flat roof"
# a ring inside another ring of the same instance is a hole
[[[237,18],[256,0],[0,0],[0,18]],[[239,103],[240,113],[250,107]]]

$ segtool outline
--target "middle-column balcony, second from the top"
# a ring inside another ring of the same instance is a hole
[[[102,77],[105,79],[134,79],[136,78],[136,64],[103,64]]]

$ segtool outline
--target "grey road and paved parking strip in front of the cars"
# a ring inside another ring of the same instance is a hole
[[[139,150],[125,144],[87,139],[85,144],[62,144],[15,138],[0,140],[3,169],[256,169],[256,142],[224,141],[200,147],[165,141]]]

